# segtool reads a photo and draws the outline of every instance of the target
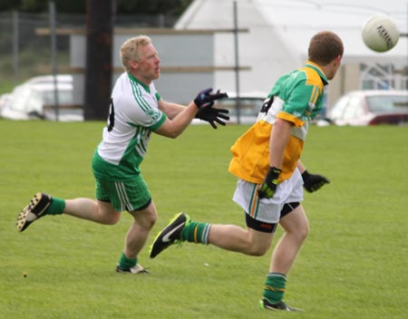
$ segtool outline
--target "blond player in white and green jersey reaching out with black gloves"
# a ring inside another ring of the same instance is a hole
[[[199,92],[189,105],[166,102],[153,81],[160,76],[160,58],[146,35],[133,37],[121,45],[125,70],[112,90],[108,125],[92,158],[96,199],[62,199],[38,193],[17,218],[17,229],[24,231],[38,218],[71,215],[105,225],[113,225],[127,210],[134,218],[116,271],[146,272],[138,263],[156,218],[151,192],[141,176],[141,161],[148,149],[151,132],[168,138],[178,137],[194,117],[225,125],[227,110],[212,108],[214,101],[227,97],[211,89]]]

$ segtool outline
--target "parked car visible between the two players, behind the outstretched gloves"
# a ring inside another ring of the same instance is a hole
[[[245,92],[239,94],[239,123],[253,124],[257,121],[257,114],[262,108],[262,104],[267,98],[267,92]],[[228,92],[228,99],[219,100],[214,104],[215,108],[227,109],[229,111],[228,123],[238,123],[238,99],[237,94]],[[193,120],[193,123],[203,123],[200,120]]]

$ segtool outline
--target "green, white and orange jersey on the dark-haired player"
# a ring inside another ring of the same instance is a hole
[[[257,122],[231,147],[229,171],[239,179],[262,183],[269,169],[269,140],[277,119],[293,123],[284,152],[279,180],[290,179],[303,150],[308,121],[323,106],[325,74],[317,64],[306,65],[277,80],[260,111]]]

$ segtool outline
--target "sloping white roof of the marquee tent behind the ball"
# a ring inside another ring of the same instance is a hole
[[[237,0],[238,27],[270,29],[287,47],[306,56],[310,37],[321,30],[339,34],[345,43],[345,61],[396,58],[406,61],[407,38],[388,53],[374,53],[362,40],[364,22],[373,14],[389,14],[400,32],[407,33],[408,2],[403,0]],[[259,15],[263,19],[259,19]],[[176,28],[231,28],[233,0],[195,0]]]

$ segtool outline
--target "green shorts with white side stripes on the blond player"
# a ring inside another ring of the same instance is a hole
[[[117,211],[141,210],[151,203],[151,192],[141,175],[126,181],[95,180],[95,197],[110,202]]]

